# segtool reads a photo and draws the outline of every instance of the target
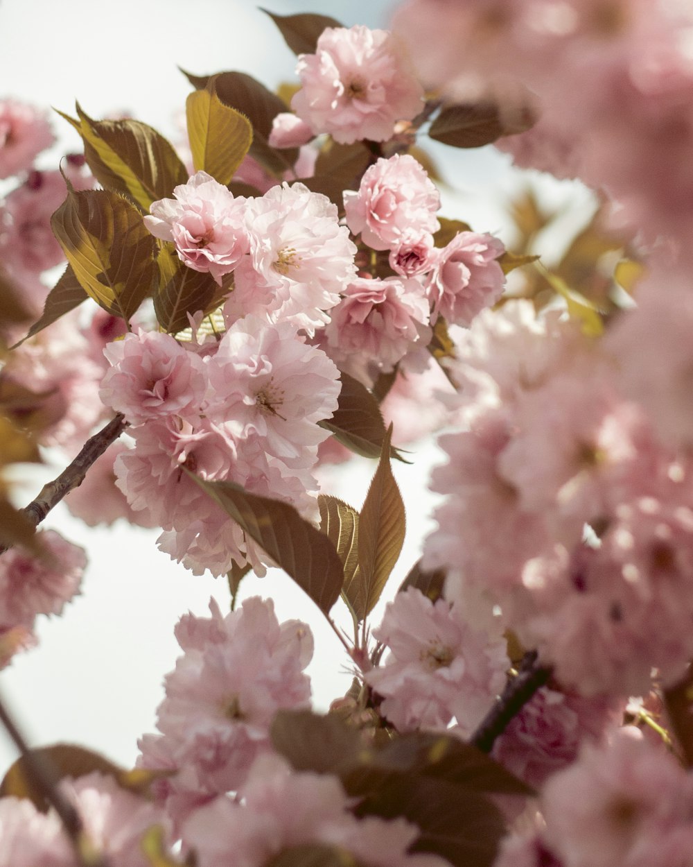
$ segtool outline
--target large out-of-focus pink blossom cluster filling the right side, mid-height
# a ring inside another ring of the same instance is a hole
[[[466,429],[441,440],[427,568],[448,571],[450,599],[499,605],[564,688],[676,681],[693,654],[690,460],[619,394],[603,345],[527,303],[477,316],[452,375]]]

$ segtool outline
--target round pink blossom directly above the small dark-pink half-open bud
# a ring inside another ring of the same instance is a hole
[[[379,159],[364,173],[359,192],[344,192],[344,207],[353,234],[373,250],[398,249],[409,242],[412,228],[431,233],[440,226],[440,195],[409,153]]]

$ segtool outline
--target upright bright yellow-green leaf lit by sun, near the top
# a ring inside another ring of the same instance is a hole
[[[219,99],[216,80],[212,75],[204,90],[188,96],[185,114],[195,171],[228,184],[249,151],[253,128],[248,118]]]

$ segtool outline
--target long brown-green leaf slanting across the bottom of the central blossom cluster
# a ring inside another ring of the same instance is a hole
[[[344,583],[340,557],[327,536],[293,505],[249,493],[233,482],[189,475],[327,614]]]

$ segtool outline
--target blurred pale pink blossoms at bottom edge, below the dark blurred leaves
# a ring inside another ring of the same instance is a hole
[[[443,858],[409,854],[418,829],[404,818],[355,818],[331,775],[292,772],[277,756],[256,760],[243,802],[218,798],[185,823],[184,843],[199,867],[262,867],[305,844],[337,848],[345,862],[365,867],[445,867]]]

